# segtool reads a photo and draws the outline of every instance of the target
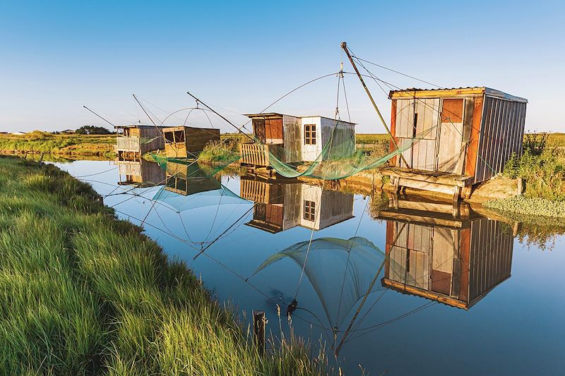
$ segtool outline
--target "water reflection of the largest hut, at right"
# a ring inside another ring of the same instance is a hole
[[[386,222],[383,286],[468,309],[510,277],[513,236],[468,205],[398,200]]]

